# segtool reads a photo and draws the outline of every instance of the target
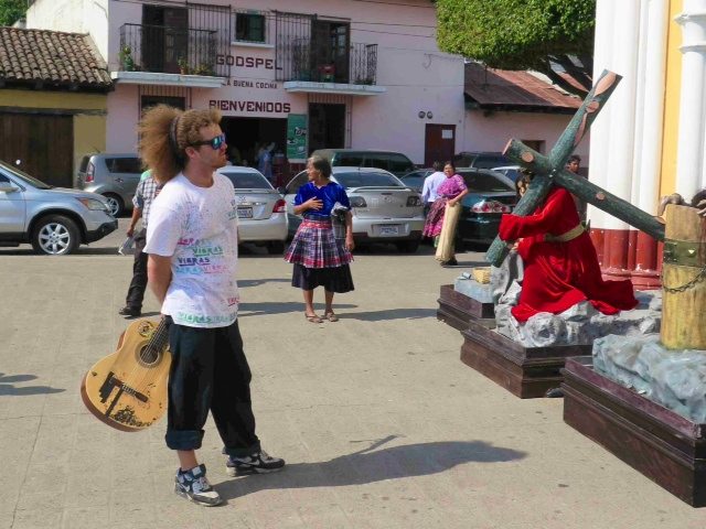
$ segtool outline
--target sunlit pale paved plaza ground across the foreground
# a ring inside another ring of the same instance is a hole
[[[121,219],[121,225],[127,219]],[[49,258],[0,249],[0,529],[702,528],[693,509],[561,420],[459,360],[437,322],[442,269],[422,247],[357,253],[338,323],[303,317],[290,266],[244,252],[240,328],[275,475],[228,478],[213,425],[201,457],[226,505],[172,492],[164,423],[121,433],[84,408],[83,375],[116,347],[131,257],[121,234]],[[459,256],[461,264],[480,253]],[[322,292],[317,292],[322,301]],[[322,309],[322,304],[320,305]],[[146,311],[158,306],[148,295]]]

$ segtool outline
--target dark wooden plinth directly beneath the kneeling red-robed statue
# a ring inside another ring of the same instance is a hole
[[[524,347],[475,321],[462,331],[461,361],[521,399],[558,388],[567,357],[589,355],[592,345]]]

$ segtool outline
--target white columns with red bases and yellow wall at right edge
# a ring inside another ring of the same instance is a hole
[[[595,75],[623,76],[591,132],[590,179],[656,214],[706,186],[706,0],[598,0]],[[589,209],[603,272],[659,287],[660,247]]]

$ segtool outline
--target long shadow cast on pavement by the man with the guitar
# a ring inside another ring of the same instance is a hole
[[[464,463],[502,463],[526,456],[525,452],[483,441],[440,441],[373,451],[379,444],[320,463],[288,464],[281,473],[224,482],[216,488],[231,499],[264,489],[336,487],[427,476]]]

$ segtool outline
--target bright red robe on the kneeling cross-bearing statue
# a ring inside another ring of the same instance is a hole
[[[553,187],[534,215],[503,215],[500,238],[522,238],[517,252],[524,261],[520,302],[512,314],[526,322],[539,312],[559,314],[588,300],[603,314],[616,314],[638,305],[632,283],[603,281],[596,248],[588,233],[567,242],[545,241],[545,235],[559,236],[579,224],[574,199],[563,187]]]

